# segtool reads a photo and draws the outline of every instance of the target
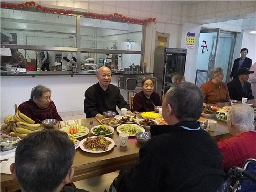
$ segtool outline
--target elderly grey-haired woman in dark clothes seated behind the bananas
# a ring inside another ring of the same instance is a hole
[[[62,121],[54,102],[51,101],[51,90],[45,86],[39,85],[32,88],[30,99],[20,104],[18,109],[35,123],[45,119]]]

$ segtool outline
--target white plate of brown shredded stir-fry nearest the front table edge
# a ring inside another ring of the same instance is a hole
[[[110,151],[115,146],[113,139],[102,136],[92,136],[80,141],[81,150],[89,153],[103,153]]]

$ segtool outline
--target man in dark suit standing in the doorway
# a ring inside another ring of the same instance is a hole
[[[248,54],[248,49],[243,48],[240,51],[241,57],[234,60],[234,65],[230,74],[230,80],[238,78],[238,70],[240,68],[248,68],[250,69],[252,60],[247,58],[246,55]]]

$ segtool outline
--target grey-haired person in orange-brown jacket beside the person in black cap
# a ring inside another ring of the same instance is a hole
[[[214,67],[210,71],[210,80],[201,85],[204,94],[204,102],[207,104],[216,104],[228,102],[230,96],[226,83],[222,82],[224,78],[223,69]]]

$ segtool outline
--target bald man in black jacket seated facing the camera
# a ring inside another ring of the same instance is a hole
[[[108,67],[102,66],[96,75],[98,83],[89,87],[84,94],[84,113],[86,117],[103,117],[103,112],[116,112],[116,106],[119,109],[127,108],[131,113],[129,104],[124,100],[120,89],[111,82],[111,71]]]

